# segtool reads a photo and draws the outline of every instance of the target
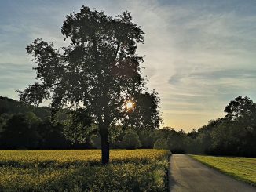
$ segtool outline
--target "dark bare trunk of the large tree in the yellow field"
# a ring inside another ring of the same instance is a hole
[[[106,165],[109,163],[109,141],[108,127],[100,127],[101,134],[101,163]]]

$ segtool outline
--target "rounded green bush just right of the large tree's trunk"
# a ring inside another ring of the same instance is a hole
[[[138,147],[141,147],[139,136],[132,130],[128,130],[126,132],[126,134],[123,136],[122,143],[123,147],[126,149],[137,149]]]

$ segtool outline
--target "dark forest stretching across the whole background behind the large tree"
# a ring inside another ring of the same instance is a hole
[[[225,117],[211,120],[188,133],[170,127],[127,130],[118,125],[112,127],[111,148],[156,148],[182,154],[256,157],[256,103],[238,96],[224,111]],[[68,137],[70,120],[68,109],[56,112],[49,107],[34,107],[0,97],[0,149],[101,147],[100,136],[91,132],[80,143],[72,143]]]

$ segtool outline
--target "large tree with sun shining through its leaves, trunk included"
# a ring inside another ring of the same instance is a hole
[[[39,38],[27,46],[38,82],[21,91],[20,100],[38,105],[50,99],[54,110],[79,107],[74,119],[83,121],[75,121],[81,128],[75,129],[81,133],[97,125],[106,164],[112,126],[154,129],[161,121],[159,97],[141,77],[137,45],[144,43],[144,32],[127,11],[112,17],[86,6],[66,17],[61,32],[71,40],[67,47],[54,49]]]

